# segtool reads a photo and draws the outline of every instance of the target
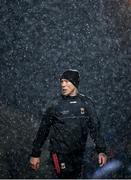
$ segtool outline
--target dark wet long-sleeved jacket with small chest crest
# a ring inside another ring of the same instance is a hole
[[[81,94],[61,95],[43,115],[31,156],[40,156],[48,135],[51,152],[84,152],[88,133],[95,142],[96,151],[105,153],[105,143],[100,134],[100,123],[92,101]]]

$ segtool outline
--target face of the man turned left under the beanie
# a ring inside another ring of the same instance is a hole
[[[61,79],[61,91],[64,96],[72,96],[76,91],[76,87],[67,79]]]

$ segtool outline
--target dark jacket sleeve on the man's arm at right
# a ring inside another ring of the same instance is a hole
[[[95,143],[97,153],[106,153],[106,145],[100,131],[100,121],[97,117],[95,106],[91,100],[86,101],[88,128],[90,136]]]

